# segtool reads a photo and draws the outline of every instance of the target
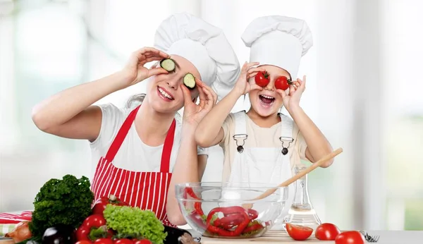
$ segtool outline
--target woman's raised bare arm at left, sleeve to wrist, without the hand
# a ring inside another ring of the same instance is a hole
[[[32,109],[32,121],[53,135],[93,141],[99,135],[102,111],[90,105],[120,90],[123,80],[123,73],[114,73],[54,94]]]

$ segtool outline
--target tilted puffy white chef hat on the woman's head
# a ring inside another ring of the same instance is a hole
[[[219,100],[238,79],[240,63],[223,31],[188,13],[166,18],[157,28],[154,47],[188,59]]]

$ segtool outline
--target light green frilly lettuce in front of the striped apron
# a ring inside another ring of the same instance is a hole
[[[137,207],[107,205],[104,209],[107,227],[118,233],[118,238],[145,238],[163,244],[167,233],[154,212]]]

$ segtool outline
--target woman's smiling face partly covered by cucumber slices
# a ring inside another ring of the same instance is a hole
[[[187,73],[192,73],[195,78],[200,79],[200,73],[190,61],[176,55],[171,55],[171,59],[176,63],[175,71],[152,76],[148,85],[146,99],[149,105],[159,113],[176,113],[183,107],[184,99],[180,84],[183,83]],[[191,99],[197,96],[197,88],[191,90]]]

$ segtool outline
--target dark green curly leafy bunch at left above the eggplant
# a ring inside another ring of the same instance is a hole
[[[40,240],[47,228],[58,224],[78,228],[92,212],[94,194],[90,181],[82,176],[63,176],[44,183],[34,200],[34,212],[30,222],[32,236]]]

